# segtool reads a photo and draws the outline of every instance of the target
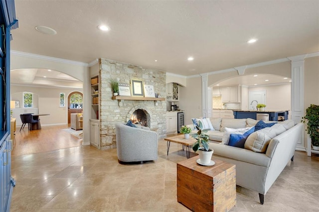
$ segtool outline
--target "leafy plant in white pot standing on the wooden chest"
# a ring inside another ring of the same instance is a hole
[[[197,133],[192,134],[192,138],[197,141],[193,144],[193,150],[196,152],[198,150],[199,162],[202,165],[209,165],[211,163],[211,156],[213,155],[214,150],[208,146],[208,136],[204,133],[207,133],[207,130],[203,130],[203,125],[201,122],[198,122],[196,125]]]

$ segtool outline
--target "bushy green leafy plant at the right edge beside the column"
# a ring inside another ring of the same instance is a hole
[[[302,117],[301,122],[306,123],[307,130],[311,138],[314,150],[319,150],[319,105],[311,104],[306,109],[306,116]]]

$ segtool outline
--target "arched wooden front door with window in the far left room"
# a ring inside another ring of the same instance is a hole
[[[68,124],[71,124],[71,113],[83,112],[83,93],[74,91],[68,95]]]

